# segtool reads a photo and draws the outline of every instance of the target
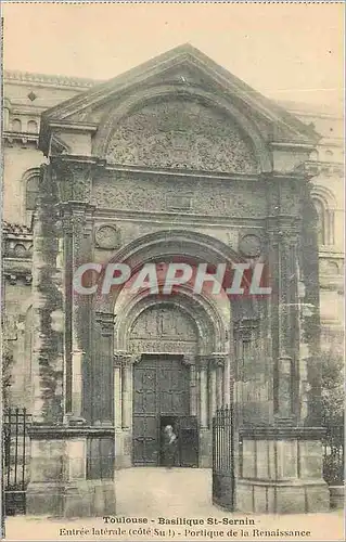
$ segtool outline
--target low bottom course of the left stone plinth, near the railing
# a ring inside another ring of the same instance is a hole
[[[115,483],[113,480],[81,480],[65,485],[30,482],[26,513],[69,518],[114,515]]]

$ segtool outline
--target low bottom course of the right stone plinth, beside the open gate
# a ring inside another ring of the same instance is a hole
[[[321,480],[274,482],[240,479],[235,482],[235,509],[256,514],[328,512],[330,493]]]

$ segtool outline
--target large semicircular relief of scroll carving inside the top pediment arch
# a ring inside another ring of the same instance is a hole
[[[222,112],[188,100],[145,105],[123,119],[111,138],[113,164],[257,172],[249,141]]]

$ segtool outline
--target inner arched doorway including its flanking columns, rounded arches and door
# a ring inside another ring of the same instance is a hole
[[[217,307],[181,288],[174,298],[118,299],[117,466],[161,466],[164,425],[179,434],[177,466],[212,466],[212,422],[227,389],[229,352]],[[222,353],[215,353],[220,343]]]

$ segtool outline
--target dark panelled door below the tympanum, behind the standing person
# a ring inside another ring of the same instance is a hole
[[[198,465],[196,416],[190,416],[190,374],[181,356],[144,354],[133,371],[133,465],[163,466],[163,429],[177,436],[174,465]]]

